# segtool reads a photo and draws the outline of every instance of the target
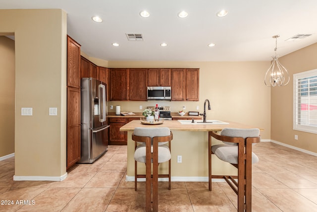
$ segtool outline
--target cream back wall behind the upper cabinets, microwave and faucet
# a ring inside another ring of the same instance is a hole
[[[172,112],[204,111],[204,101],[209,99],[211,110],[208,119],[227,120],[264,129],[262,139],[270,139],[270,88],[264,85],[267,62],[108,62],[109,68],[200,68],[200,101],[113,101],[121,111],[142,112],[156,103],[171,106]],[[136,82],[137,83],[137,82]],[[139,106],[143,109],[140,110]],[[115,107],[113,107],[115,109]]]

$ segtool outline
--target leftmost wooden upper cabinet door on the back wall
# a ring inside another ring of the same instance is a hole
[[[110,101],[128,100],[128,69],[110,69],[109,98]]]

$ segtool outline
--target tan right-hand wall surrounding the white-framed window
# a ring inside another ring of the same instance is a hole
[[[313,152],[317,152],[317,135],[293,130],[293,74],[317,69],[316,58],[317,43],[280,58],[290,82],[271,90],[271,139]]]

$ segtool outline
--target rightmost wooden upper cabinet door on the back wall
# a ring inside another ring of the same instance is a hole
[[[186,69],[186,101],[199,101],[199,69]]]

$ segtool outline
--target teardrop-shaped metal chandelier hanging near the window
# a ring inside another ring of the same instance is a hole
[[[276,54],[277,50],[277,38],[279,35],[274,35],[272,38],[275,38],[275,56],[272,56],[272,64],[265,73],[264,83],[268,87],[284,86],[289,82],[289,74],[287,70],[279,63],[278,55]]]

